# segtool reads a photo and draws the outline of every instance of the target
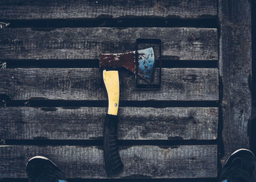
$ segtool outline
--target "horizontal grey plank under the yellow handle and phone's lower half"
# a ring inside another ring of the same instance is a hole
[[[120,100],[218,100],[217,68],[163,68],[161,90],[136,89],[122,71]],[[0,70],[0,94],[12,100],[108,100],[100,68],[15,68]]]

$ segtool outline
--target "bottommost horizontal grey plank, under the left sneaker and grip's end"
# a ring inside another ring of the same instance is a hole
[[[50,158],[67,178],[108,178],[95,146],[0,146],[3,178],[25,178],[29,158]],[[214,178],[217,146],[121,146],[124,171],[114,178]]]

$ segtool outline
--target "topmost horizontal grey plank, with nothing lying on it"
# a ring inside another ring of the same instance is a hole
[[[216,17],[216,0],[1,0],[1,19],[94,19],[100,17],[161,17],[202,19]]]

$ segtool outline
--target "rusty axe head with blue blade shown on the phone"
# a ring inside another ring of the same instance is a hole
[[[126,52],[119,54],[101,54],[100,67],[103,68],[120,68],[124,67],[132,73],[145,80],[152,82],[154,77],[155,57],[152,47],[138,50],[138,64],[136,66],[136,52]]]

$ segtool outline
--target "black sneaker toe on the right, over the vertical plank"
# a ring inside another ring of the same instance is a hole
[[[229,156],[221,174],[221,182],[255,182],[255,155],[248,149],[239,149]]]

